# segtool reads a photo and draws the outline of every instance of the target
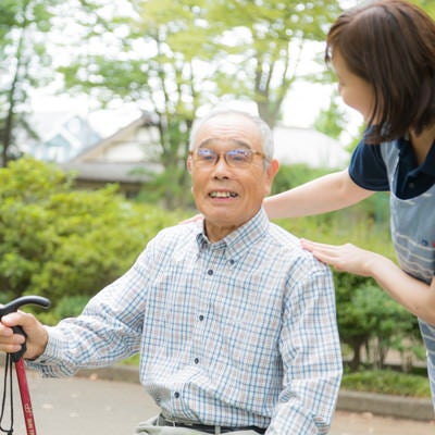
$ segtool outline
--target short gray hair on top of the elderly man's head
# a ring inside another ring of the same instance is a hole
[[[189,139],[189,150],[192,151],[195,148],[195,140],[198,134],[199,128],[212,117],[219,115],[241,115],[245,116],[247,120],[251,121],[253,124],[257,125],[260,137],[261,137],[261,148],[265,156],[265,162],[270,162],[273,159],[273,151],[274,151],[274,144],[273,144],[273,134],[271,127],[260,117],[257,115],[252,115],[248,112],[244,112],[241,110],[234,110],[234,109],[219,109],[213,110],[208,113],[206,116],[195,121],[194,126],[190,132],[190,139]]]

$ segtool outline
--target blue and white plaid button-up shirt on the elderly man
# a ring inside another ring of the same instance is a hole
[[[82,315],[49,327],[46,376],[140,352],[164,415],[326,434],[341,378],[331,271],[261,210],[210,244],[202,223],[151,240]]]

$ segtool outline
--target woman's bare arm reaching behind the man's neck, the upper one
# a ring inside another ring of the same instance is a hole
[[[373,194],[355,184],[345,170],[268,197],[263,204],[269,219],[299,217],[344,209]]]

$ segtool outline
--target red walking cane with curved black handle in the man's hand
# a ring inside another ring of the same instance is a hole
[[[47,298],[42,298],[39,296],[23,296],[0,308],[0,321],[3,315],[17,311],[20,307],[29,303],[40,306],[44,308],[48,308],[50,306],[50,301]],[[21,326],[14,326],[13,330],[15,334],[22,334],[26,336]],[[32,408],[30,393],[28,389],[26,370],[23,360],[23,355],[25,353],[25,351],[26,351],[26,343],[24,341],[21,350],[10,355],[10,358],[15,363],[16,378],[18,381],[20,396],[23,406],[24,423],[26,425],[27,435],[36,435],[34,411]],[[12,428],[10,433],[12,433]]]

